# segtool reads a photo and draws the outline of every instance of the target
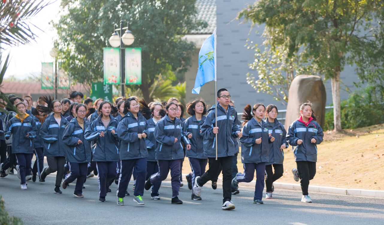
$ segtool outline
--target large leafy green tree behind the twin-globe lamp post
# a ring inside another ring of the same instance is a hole
[[[160,74],[185,73],[194,43],[182,36],[207,25],[196,19],[195,0],[66,0],[62,7],[65,13],[54,25],[57,46],[64,69],[82,83],[103,78],[103,47],[113,23],[130,22],[136,39],[129,47],[142,48],[139,88],[146,101],[152,100],[149,90]]]

